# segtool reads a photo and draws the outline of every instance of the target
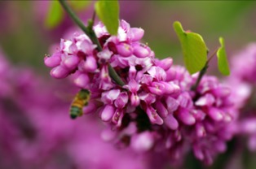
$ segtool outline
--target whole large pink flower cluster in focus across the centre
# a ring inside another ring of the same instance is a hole
[[[77,87],[90,90],[83,111],[98,112],[109,125],[104,140],[139,152],[165,152],[176,160],[193,150],[196,158],[212,163],[233,135],[237,111],[230,89],[204,76],[192,90],[197,75],[173,66],[172,58],[155,58],[140,42],[143,29],[130,28],[124,20],[117,36],[110,36],[103,24],[94,31],[102,51],[85,34],[74,34],[71,40],[61,40],[60,49],[46,57],[45,64],[53,67],[51,76],[71,76]],[[111,79],[108,65],[126,85]]]

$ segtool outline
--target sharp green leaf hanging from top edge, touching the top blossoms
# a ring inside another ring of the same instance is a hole
[[[117,35],[119,25],[119,4],[117,0],[98,1],[95,3],[95,11],[108,29],[111,35]]]

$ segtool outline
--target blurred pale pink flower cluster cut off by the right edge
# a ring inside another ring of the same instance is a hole
[[[232,76],[226,83],[232,85],[232,97],[241,111],[236,134],[248,137],[249,150],[256,150],[256,43],[249,44],[232,58]]]

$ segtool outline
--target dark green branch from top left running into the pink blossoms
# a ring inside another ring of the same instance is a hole
[[[98,51],[102,51],[102,46],[100,45],[99,40],[96,37],[94,30],[92,29],[95,20],[95,14],[93,16],[93,20],[90,20],[88,22],[88,27],[86,27],[64,0],[59,0],[59,2],[61,6],[63,6],[64,10],[68,13],[68,15],[72,18],[72,20],[77,24],[77,26],[81,28],[88,37],[90,37],[90,40],[94,44],[97,45]],[[108,73],[109,76],[117,83],[117,85],[125,85],[125,83],[121,80],[120,76],[118,76],[117,72],[110,64],[108,64]]]

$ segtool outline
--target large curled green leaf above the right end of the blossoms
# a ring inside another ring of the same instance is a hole
[[[201,35],[195,32],[185,32],[178,21],[175,21],[173,26],[182,46],[183,58],[188,72],[193,74],[201,71],[207,60],[205,41]]]

